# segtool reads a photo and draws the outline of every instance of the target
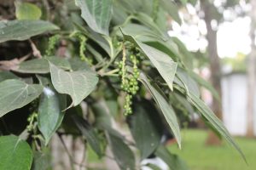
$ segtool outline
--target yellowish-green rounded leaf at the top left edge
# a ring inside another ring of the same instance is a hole
[[[32,3],[15,2],[16,18],[18,20],[39,20],[42,12],[37,5]]]

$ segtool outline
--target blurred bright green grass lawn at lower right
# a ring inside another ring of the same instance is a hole
[[[169,149],[187,162],[190,170],[255,170],[256,139],[236,138],[247,158],[243,161],[238,152],[224,142],[221,146],[207,146],[207,131],[183,130],[182,150],[176,145]]]

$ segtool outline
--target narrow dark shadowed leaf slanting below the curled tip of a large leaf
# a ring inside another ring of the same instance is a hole
[[[90,144],[91,148],[96,152],[96,154],[99,157],[101,157],[102,150],[101,150],[100,140],[98,139],[95,129],[91,127],[89,122],[84,120],[82,117],[73,115],[72,118],[76,126],[84,135],[86,141]]]

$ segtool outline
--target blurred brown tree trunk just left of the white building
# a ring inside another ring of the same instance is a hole
[[[207,41],[208,41],[208,55],[210,59],[210,71],[212,86],[215,88],[221,99],[221,66],[219,64],[218,51],[217,51],[217,31],[212,29],[211,22],[214,20],[212,9],[215,8],[206,0],[201,0],[201,8],[204,11],[204,20],[207,25]],[[218,99],[212,99],[212,111],[222,119],[222,106]],[[212,131],[208,134],[207,144],[221,144],[221,140]]]

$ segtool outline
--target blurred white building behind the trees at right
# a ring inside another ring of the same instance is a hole
[[[244,136],[247,132],[247,75],[230,73],[222,77],[221,83],[224,125],[231,134]],[[256,100],[256,95],[254,96]],[[256,101],[254,106],[256,135]]]

